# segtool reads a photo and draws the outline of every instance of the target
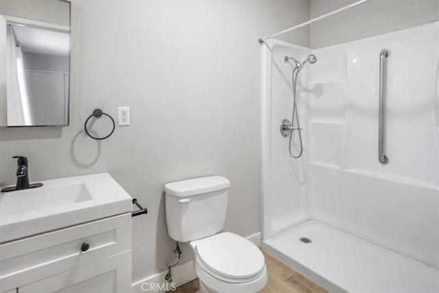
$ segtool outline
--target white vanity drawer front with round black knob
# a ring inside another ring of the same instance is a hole
[[[0,245],[0,292],[127,250],[131,213],[6,243]]]

